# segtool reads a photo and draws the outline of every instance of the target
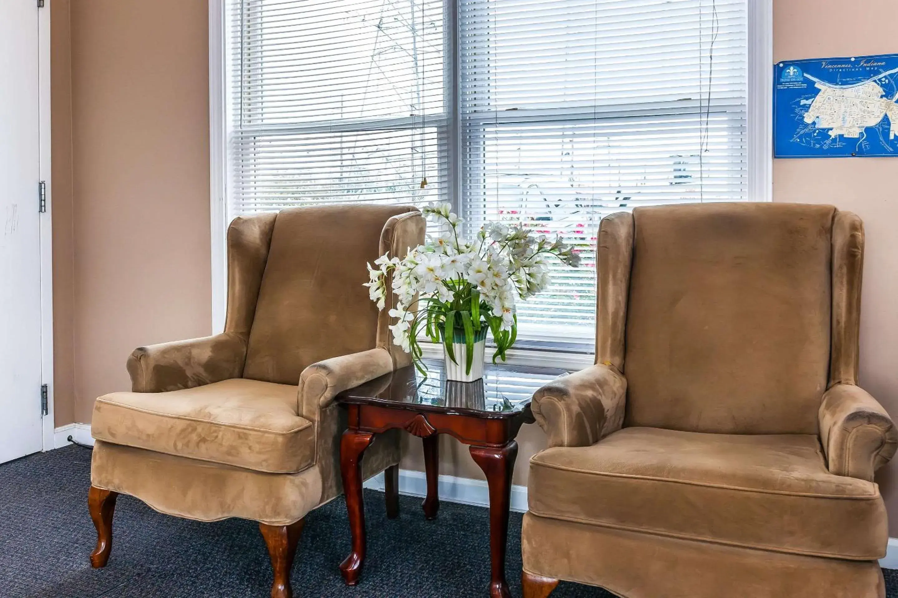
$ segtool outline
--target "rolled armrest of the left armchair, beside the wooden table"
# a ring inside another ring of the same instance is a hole
[[[381,347],[313,363],[299,377],[299,413],[315,421],[318,412],[330,406],[337,394],[392,370],[390,351]]]

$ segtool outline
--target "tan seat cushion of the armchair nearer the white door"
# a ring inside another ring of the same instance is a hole
[[[112,393],[93,407],[93,438],[257,472],[314,463],[315,430],[296,386],[233,378],[167,393]]]

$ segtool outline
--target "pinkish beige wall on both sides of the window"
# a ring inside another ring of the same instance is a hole
[[[137,345],[210,332],[207,3],[53,0],[57,425],[128,388]],[[898,51],[895,0],[775,0],[776,59]],[[835,204],[867,226],[861,383],[898,417],[898,159],[777,160],[774,198]],[[518,438],[526,483],[541,430]],[[404,466],[422,469],[407,439]],[[467,449],[444,473],[482,479]],[[898,465],[879,476],[898,536]]]

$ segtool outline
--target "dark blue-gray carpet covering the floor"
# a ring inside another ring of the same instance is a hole
[[[96,540],[87,514],[91,452],[66,446],[0,465],[0,596],[25,598],[241,598],[269,594],[268,553],[257,524],[232,519],[201,524],[156,513],[120,497],[112,556],[92,570]],[[443,503],[436,521],[418,498],[401,498],[388,520],[383,494],[365,491],[368,556],[361,583],[343,585],[337,568],[349,549],[346,507],[335,500],[311,513],[293,568],[303,598],[483,598],[489,581],[487,510]],[[521,595],[521,516],[512,514],[508,581]],[[898,570],[885,570],[898,598]],[[738,593],[735,592],[734,595]],[[552,598],[611,598],[562,584]],[[821,596],[821,598],[825,598]]]

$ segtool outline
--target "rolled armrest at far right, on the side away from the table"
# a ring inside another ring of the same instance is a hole
[[[863,388],[837,384],[823,394],[820,439],[830,472],[873,481],[898,447],[898,432],[883,406]]]

